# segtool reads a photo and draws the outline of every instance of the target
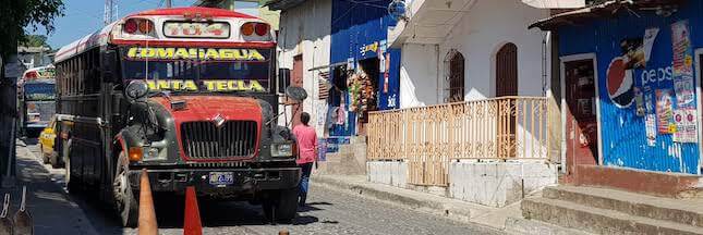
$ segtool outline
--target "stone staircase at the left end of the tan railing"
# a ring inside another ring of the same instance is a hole
[[[323,175],[365,175],[365,138],[352,137],[349,145],[340,145],[339,151],[327,153],[326,161],[318,162],[318,169],[314,172]]]

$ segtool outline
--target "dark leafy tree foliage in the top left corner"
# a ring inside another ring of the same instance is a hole
[[[63,0],[1,0],[0,54],[5,57],[16,50],[17,42],[25,38],[25,27],[53,32],[53,20],[63,16]]]

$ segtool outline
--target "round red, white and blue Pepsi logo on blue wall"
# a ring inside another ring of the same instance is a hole
[[[610,101],[618,108],[628,108],[634,100],[634,79],[632,71],[627,70],[622,58],[610,61],[606,73],[606,86]]]

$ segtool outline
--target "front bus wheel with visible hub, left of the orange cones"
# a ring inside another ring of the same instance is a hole
[[[114,198],[114,209],[120,215],[122,226],[135,227],[138,220],[138,205],[134,197],[134,191],[130,185],[129,172],[130,162],[124,151],[120,152],[114,170],[114,180],[112,183],[112,198]]]

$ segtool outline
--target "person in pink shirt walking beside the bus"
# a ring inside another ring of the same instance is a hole
[[[310,173],[313,170],[313,163],[317,161],[317,133],[315,128],[308,125],[310,114],[306,112],[301,113],[300,121],[302,124],[293,127],[293,135],[298,139],[298,165],[301,166],[303,175],[300,181],[300,200],[299,206],[305,206],[307,198]]]

